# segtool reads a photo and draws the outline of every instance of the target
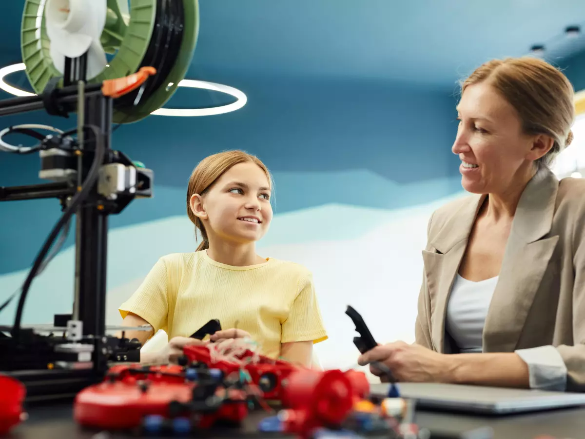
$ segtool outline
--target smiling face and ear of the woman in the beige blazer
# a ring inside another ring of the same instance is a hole
[[[538,158],[535,136],[523,133],[517,111],[489,83],[469,85],[457,112],[459,128],[452,151],[461,160],[466,191],[504,193],[533,172]]]

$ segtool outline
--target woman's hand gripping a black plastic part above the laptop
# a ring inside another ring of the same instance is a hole
[[[397,381],[452,382],[453,365],[449,356],[421,345],[409,345],[403,341],[378,345],[357,360],[360,366],[376,361],[384,363]],[[384,376],[384,372],[375,365],[370,365],[370,371]]]

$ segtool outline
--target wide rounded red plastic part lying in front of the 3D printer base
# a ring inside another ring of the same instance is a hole
[[[170,402],[192,399],[192,383],[136,384],[103,382],[81,390],[75,398],[74,419],[82,426],[126,429],[140,426],[146,415],[168,417]]]

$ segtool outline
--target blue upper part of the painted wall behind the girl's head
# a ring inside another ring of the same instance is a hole
[[[201,118],[150,116],[119,128],[113,148],[151,167],[156,186],[154,198],[134,201],[112,216],[112,228],[184,215],[192,168],[211,153],[233,148],[258,155],[274,173],[276,214],[328,203],[402,208],[460,191],[457,159],[450,152],[455,88],[206,74],[244,91],[247,105]],[[223,95],[184,88],[167,106],[221,100]],[[41,112],[0,120],[2,126],[40,122],[68,128],[75,123]],[[37,156],[4,154],[0,184],[40,182],[38,166]],[[59,217],[59,203],[19,201],[0,209],[0,273],[10,273],[30,265]],[[67,245],[72,242],[73,234]]]

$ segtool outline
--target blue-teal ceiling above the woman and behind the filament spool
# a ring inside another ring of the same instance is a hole
[[[19,59],[23,0],[2,2],[0,63]],[[556,62],[585,49],[563,30],[583,0],[200,0],[191,77],[336,76],[451,85],[532,44]],[[211,78],[207,78],[211,80]]]

